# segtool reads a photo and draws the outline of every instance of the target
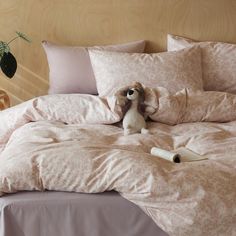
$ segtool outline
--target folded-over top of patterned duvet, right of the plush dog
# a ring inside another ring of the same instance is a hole
[[[169,125],[236,120],[236,95],[230,93],[183,89],[159,97],[158,105],[150,118]]]

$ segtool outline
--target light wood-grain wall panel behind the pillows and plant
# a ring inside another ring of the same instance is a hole
[[[235,24],[236,0],[2,0],[0,40],[18,30],[33,42],[11,45],[18,70],[11,80],[0,72],[0,89],[12,105],[47,93],[44,39],[83,46],[146,39],[147,52],[157,52],[167,33],[236,43]]]

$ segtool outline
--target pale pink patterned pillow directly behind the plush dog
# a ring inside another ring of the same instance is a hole
[[[89,55],[99,96],[114,95],[117,88],[134,81],[147,87],[165,87],[170,93],[202,89],[199,47],[154,54],[89,50]]]

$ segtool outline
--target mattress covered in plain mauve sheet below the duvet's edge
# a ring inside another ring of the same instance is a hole
[[[166,236],[118,193],[20,192],[0,198],[0,236]]]

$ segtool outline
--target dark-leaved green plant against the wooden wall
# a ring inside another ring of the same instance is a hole
[[[25,40],[30,43],[31,40],[23,33],[16,32],[16,37],[11,39],[9,42],[0,41],[0,67],[2,72],[8,77],[12,78],[16,73],[17,61],[13,54],[10,52],[10,44],[18,38]]]

